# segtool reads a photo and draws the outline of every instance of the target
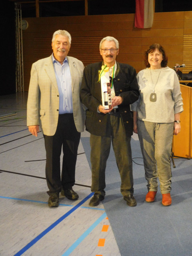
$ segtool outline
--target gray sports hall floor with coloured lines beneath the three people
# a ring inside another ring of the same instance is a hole
[[[146,203],[146,180],[138,137],[132,136],[134,196],[129,207],[111,150],[106,168],[106,197],[88,205],[92,193],[89,134],[78,149],[76,202],[60,196],[48,208],[42,133],[26,127],[27,93],[0,96],[0,256],[191,256],[192,160],[175,159],[172,205]]]

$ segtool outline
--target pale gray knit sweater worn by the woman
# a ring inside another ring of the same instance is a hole
[[[176,72],[169,67],[152,70],[146,68],[138,73],[137,81],[140,97],[131,105],[131,110],[138,112],[138,119],[155,123],[174,122],[174,114],[183,111]],[[153,88],[157,96],[156,102],[150,101]]]

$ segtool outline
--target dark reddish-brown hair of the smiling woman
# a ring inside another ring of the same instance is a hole
[[[148,55],[151,52],[154,52],[155,50],[159,50],[159,52],[162,53],[163,55],[163,60],[161,62],[161,66],[164,68],[167,66],[167,62],[168,62],[168,57],[165,53],[164,48],[160,45],[160,44],[152,44],[151,46],[149,46],[149,48],[144,52],[144,62],[145,62],[145,66],[147,68],[150,68],[150,64],[148,62]]]

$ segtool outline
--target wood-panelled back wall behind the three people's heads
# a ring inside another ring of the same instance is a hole
[[[72,46],[69,56],[82,60],[84,65],[101,60],[99,43],[105,36],[114,36],[118,39],[118,61],[134,66],[136,72],[145,68],[144,50],[153,43],[164,46],[170,67],[175,63],[184,63],[189,69],[192,62],[192,56],[186,50],[186,38],[184,39],[186,35],[192,35],[192,12],[154,13],[154,23],[150,29],[134,28],[134,14],[24,19],[29,24],[28,29],[23,31],[26,91],[32,63],[52,54],[52,34],[58,29],[70,32]],[[186,67],[182,71],[185,73],[188,69]]]

